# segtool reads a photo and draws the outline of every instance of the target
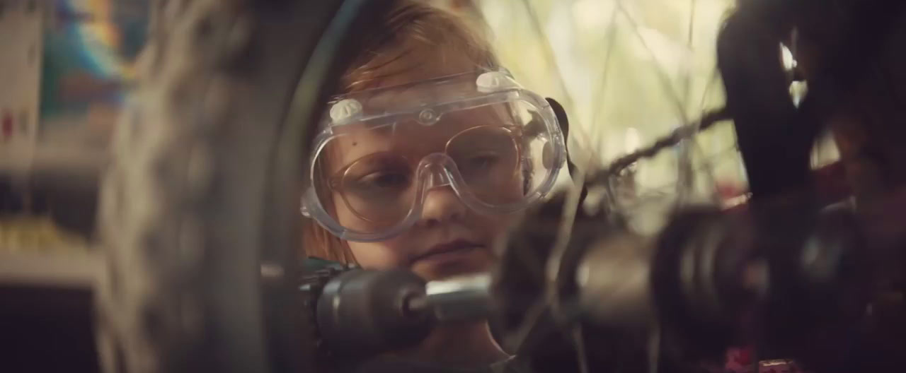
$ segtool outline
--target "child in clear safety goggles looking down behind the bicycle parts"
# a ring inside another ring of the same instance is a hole
[[[302,198],[308,255],[425,280],[488,271],[492,243],[565,163],[547,100],[453,15],[400,0],[328,102]],[[402,359],[508,357],[487,322],[435,330]]]

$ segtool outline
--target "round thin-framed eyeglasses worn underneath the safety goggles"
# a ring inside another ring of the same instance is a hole
[[[511,204],[525,196],[527,169],[520,167],[519,135],[514,129],[501,126],[465,129],[450,138],[442,150],[456,165],[444,172],[458,173],[463,184],[459,187],[467,189],[479,201],[488,205]],[[431,185],[429,174],[438,171],[419,167],[421,163],[421,158],[413,159],[392,150],[372,153],[334,173],[330,177],[330,190],[334,199],[339,197],[356,218],[354,228],[385,229],[409,215],[419,202],[419,188],[437,186]],[[319,164],[324,166],[323,162]],[[429,171],[419,175],[419,169]],[[339,217],[336,213],[332,215]]]

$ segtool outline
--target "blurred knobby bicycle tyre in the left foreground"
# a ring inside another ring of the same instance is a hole
[[[102,179],[105,371],[311,371],[295,165],[349,30],[383,6],[153,3]]]

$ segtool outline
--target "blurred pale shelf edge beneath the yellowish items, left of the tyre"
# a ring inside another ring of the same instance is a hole
[[[0,253],[0,286],[91,289],[98,253]]]

